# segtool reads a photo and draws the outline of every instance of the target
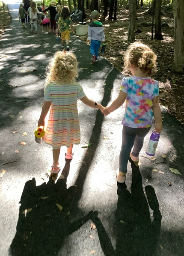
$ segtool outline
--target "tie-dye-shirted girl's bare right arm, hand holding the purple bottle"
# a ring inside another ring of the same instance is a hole
[[[158,103],[158,96],[153,98],[152,110],[153,110],[153,116],[155,120],[154,131],[160,133],[162,131],[162,116],[161,116],[160,105]]]

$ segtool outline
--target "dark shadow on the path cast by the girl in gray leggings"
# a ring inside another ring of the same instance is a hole
[[[118,183],[119,198],[114,225],[115,250],[101,220],[98,217],[93,219],[106,256],[153,256],[157,247],[162,219],[157,196],[154,188],[148,185],[145,187],[146,199],[139,167],[136,167],[132,161],[131,167],[131,192],[127,190],[125,184]],[[153,221],[151,221],[148,204],[153,210]]]

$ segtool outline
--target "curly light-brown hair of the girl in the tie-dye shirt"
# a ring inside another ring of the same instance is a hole
[[[124,56],[125,70],[130,71],[131,64],[138,67],[142,73],[152,75],[157,72],[157,55],[148,47],[140,42],[131,44]]]

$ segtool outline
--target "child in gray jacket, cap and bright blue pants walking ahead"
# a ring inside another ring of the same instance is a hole
[[[98,52],[101,42],[105,43],[104,27],[101,22],[98,21],[99,12],[93,11],[91,13],[92,22],[88,27],[88,40],[90,42],[90,52],[92,54],[92,62],[98,61]]]

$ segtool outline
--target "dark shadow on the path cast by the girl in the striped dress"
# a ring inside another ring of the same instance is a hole
[[[70,161],[66,160],[56,184],[52,179],[40,186],[36,186],[35,178],[26,182],[17,231],[10,246],[11,256],[57,255],[64,239],[91,218],[92,211],[81,217],[83,213],[77,207],[77,187],[66,187]]]

